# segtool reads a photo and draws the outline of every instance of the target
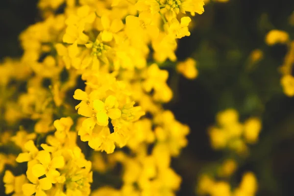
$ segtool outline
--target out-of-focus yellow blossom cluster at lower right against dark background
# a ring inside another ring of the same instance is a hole
[[[238,168],[238,156],[245,158],[248,144],[258,140],[261,122],[258,118],[249,118],[239,122],[239,114],[227,109],[217,114],[217,126],[209,128],[211,145],[215,149],[226,149],[228,157],[214,164],[210,172],[202,172],[197,181],[196,192],[209,196],[254,196],[257,192],[257,179],[253,172],[245,172],[238,187],[230,186],[230,179]]]

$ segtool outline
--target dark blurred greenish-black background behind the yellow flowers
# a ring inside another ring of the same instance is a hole
[[[22,54],[18,35],[40,20],[36,4],[37,0],[1,0],[1,60]],[[294,39],[294,26],[289,25],[294,0],[230,0],[209,2],[204,8],[194,18],[191,36],[181,39],[177,49],[179,60],[196,59],[198,77],[187,80],[170,70],[175,98],[166,108],[191,127],[188,147],[172,162],[183,180],[177,195],[195,195],[199,173],[226,156],[211,148],[207,129],[219,111],[235,108],[241,122],[257,116],[263,128],[259,142],[250,146],[250,155],[232,176],[232,184],[238,184],[245,171],[252,171],[258,196],[293,196],[294,98],[283,94],[278,72],[287,47],[269,47],[264,38],[276,28]],[[263,59],[251,66],[248,59],[254,49],[263,51]]]

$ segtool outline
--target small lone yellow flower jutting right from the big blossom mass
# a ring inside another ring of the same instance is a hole
[[[188,79],[195,79],[198,75],[196,61],[193,58],[187,58],[184,62],[178,63],[176,70]]]

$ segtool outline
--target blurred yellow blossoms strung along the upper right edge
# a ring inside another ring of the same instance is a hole
[[[294,25],[294,14],[289,18],[290,25]],[[287,46],[287,54],[284,57],[284,62],[279,68],[282,74],[281,85],[285,95],[289,97],[294,96],[294,76],[293,76],[293,65],[294,65],[294,40],[291,39],[289,34],[283,30],[273,29],[266,35],[266,43],[269,46],[276,44],[283,44]]]

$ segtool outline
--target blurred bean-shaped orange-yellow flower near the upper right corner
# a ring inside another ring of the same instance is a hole
[[[282,30],[273,29],[266,35],[266,43],[269,46],[275,44],[285,44],[289,40],[289,35],[287,32]]]

